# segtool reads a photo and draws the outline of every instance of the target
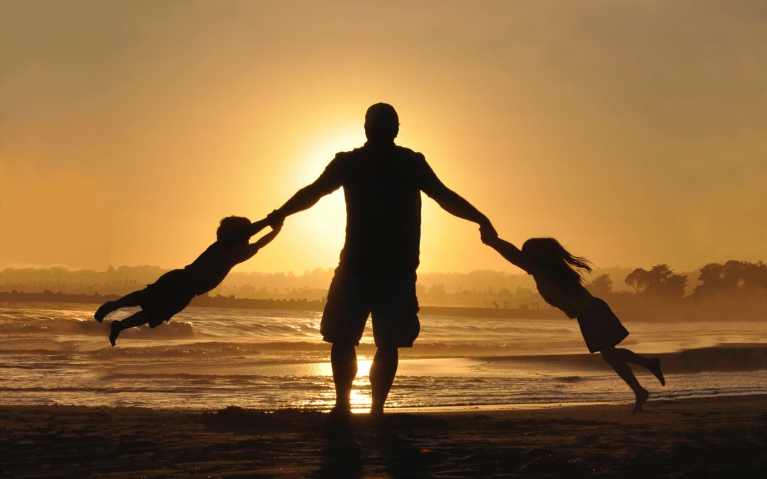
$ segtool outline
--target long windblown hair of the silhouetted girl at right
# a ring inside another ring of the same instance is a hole
[[[564,284],[583,284],[583,272],[591,273],[591,261],[574,256],[554,238],[530,238],[522,244],[522,254]]]

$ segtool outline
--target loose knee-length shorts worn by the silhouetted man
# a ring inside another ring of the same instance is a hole
[[[338,268],[322,313],[323,339],[357,346],[368,315],[377,347],[412,347],[420,331],[416,272],[377,278]]]

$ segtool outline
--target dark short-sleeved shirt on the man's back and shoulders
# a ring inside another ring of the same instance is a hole
[[[338,153],[318,182],[344,187],[346,243],[340,267],[375,276],[413,272],[419,263],[421,196],[442,188],[423,155],[395,146]]]

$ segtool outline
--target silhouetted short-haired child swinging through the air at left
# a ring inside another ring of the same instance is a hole
[[[216,230],[216,242],[203,251],[192,264],[180,270],[168,271],[143,290],[134,291],[119,300],[107,301],[101,305],[94,314],[99,323],[107,314],[121,307],[141,307],[141,310],[132,316],[112,322],[109,335],[112,346],[123,330],[142,324],[159,326],[183,310],[193,297],[218,286],[235,264],[252,258],[259,249],[277,236],[281,225],[272,227],[272,231],[255,243],[249,243],[249,238],[266,225],[268,222],[265,219],[251,223],[248,218],[241,216],[223,218],[219,229]]]

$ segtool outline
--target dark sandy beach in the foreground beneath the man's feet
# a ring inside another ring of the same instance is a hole
[[[767,396],[350,421],[0,406],[0,477],[764,477]]]

